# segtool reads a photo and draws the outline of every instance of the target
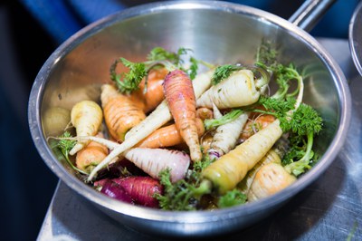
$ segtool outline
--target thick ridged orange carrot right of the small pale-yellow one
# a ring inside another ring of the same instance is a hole
[[[126,132],[146,118],[145,113],[127,96],[110,84],[101,88],[100,101],[104,120],[114,140],[124,140]]]

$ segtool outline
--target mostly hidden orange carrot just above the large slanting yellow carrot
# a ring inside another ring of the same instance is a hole
[[[239,139],[242,142],[247,140],[253,134],[255,134],[255,132],[264,129],[274,120],[274,116],[267,114],[255,116],[253,120],[247,120]]]

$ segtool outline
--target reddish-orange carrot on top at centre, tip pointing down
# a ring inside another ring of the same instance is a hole
[[[201,160],[196,128],[195,92],[190,78],[180,70],[169,72],[165,78],[164,92],[176,129],[185,140],[191,159]]]

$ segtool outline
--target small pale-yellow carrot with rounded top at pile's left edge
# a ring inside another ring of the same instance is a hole
[[[80,101],[71,109],[71,124],[75,127],[77,136],[94,136],[100,129],[103,113],[94,101]],[[78,141],[69,152],[74,155],[83,149],[89,141]]]

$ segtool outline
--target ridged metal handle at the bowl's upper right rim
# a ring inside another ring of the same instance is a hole
[[[334,2],[336,2],[336,0],[306,0],[303,5],[291,15],[289,21],[291,24],[295,24],[301,29],[310,32]]]

